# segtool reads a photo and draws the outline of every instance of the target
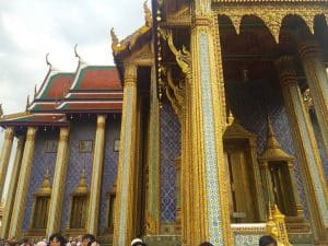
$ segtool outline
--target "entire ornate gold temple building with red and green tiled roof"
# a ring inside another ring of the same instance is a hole
[[[0,195],[19,139],[1,237],[327,246],[328,2],[153,0],[144,16],[110,31],[116,68],[49,65],[1,117]]]

